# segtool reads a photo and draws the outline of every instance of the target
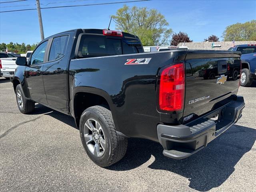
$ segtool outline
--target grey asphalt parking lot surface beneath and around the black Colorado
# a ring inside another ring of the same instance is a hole
[[[256,82],[239,95],[242,118],[197,154],[173,160],[160,144],[129,139],[126,156],[100,168],[71,117],[39,104],[21,114],[0,78],[0,191],[256,191]]]

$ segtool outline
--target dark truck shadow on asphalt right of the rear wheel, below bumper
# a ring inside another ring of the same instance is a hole
[[[126,156],[107,169],[131,170],[154,156],[155,160],[148,166],[149,168],[179,174],[188,178],[190,188],[208,191],[220,186],[228,179],[235,170],[234,166],[246,152],[256,151],[252,149],[255,140],[255,129],[234,125],[197,154],[184,160],[174,160],[165,157],[162,154],[162,146],[156,142],[129,139]]]

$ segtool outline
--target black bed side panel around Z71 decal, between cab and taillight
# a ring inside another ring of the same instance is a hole
[[[118,131],[157,141],[157,73],[185,53],[168,51],[71,60],[72,99],[80,91],[99,94],[108,101]],[[132,58],[151,60],[148,64],[125,65]]]

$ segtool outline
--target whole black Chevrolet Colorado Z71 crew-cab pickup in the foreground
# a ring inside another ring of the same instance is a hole
[[[245,105],[239,78],[227,78],[237,62],[240,52],[144,53],[132,34],[76,29],[44,39],[28,61],[18,57],[12,83],[20,112],[40,103],[74,117],[86,153],[106,167],[123,158],[128,137],[182,159],[230,128]],[[210,65],[215,77],[200,77]]]

